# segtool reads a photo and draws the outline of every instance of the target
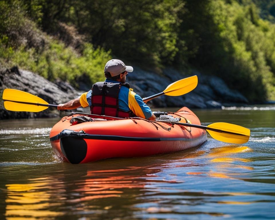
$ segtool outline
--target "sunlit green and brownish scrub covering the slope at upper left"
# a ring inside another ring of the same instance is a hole
[[[6,16],[6,23],[0,22],[1,66],[18,65],[48,80],[60,78],[76,87],[81,80],[91,84],[104,80],[103,69],[111,59],[110,52],[100,47],[95,49],[92,44],[85,43],[79,54],[72,47],[66,47],[64,43],[39,32],[35,23],[24,16],[19,1],[11,1],[11,4],[1,1],[0,4],[0,16]],[[15,15],[7,19],[11,13]],[[34,17],[37,18],[38,15],[41,16],[41,13],[36,13]],[[40,18],[37,21],[40,22]],[[32,28],[32,31],[26,33],[26,28]],[[35,39],[34,34],[38,35],[38,39]]]

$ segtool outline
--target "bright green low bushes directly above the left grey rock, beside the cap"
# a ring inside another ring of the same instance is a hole
[[[110,52],[105,52],[102,48],[94,49],[89,43],[83,47],[82,55],[55,40],[51,40],[41,53],[24,46],[17,50],[1,47],[0,60],[5,62],[8,59],[9,65],[18,65],[51,81],[59,78],[76,87],[79,80],[90,84],[104,80],[103,69],[106,62],[111,59]]]

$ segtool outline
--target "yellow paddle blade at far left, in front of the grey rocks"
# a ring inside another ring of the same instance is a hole
[[[9,111],[39,112],[48,108],[46,106],[34,105],[36,103],[48,105],[48,103],[43,99],[17,89],[5,89],[3,91],[3,100],[4,100],[5,109]],[[16,103],[16,102],[28,102],[28,103],[34,103],[34,104]]]

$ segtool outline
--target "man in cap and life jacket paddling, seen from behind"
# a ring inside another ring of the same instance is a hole
[[[142,98],[130,89],[126,75],[133,72],[121,60],[109,60],[104,68],[105,82],[97,82],[89,92],[67,103],[59,104],[58,110],[90,107],[92,114],[113,117],[141,117],[154,121],[156,116]]]

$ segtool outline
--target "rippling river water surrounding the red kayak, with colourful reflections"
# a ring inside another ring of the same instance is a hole
[[[72,165],[50,145],[58,118],[1,121],[0,219],[275,219],[275,106],[194,112],[249,142]]]

